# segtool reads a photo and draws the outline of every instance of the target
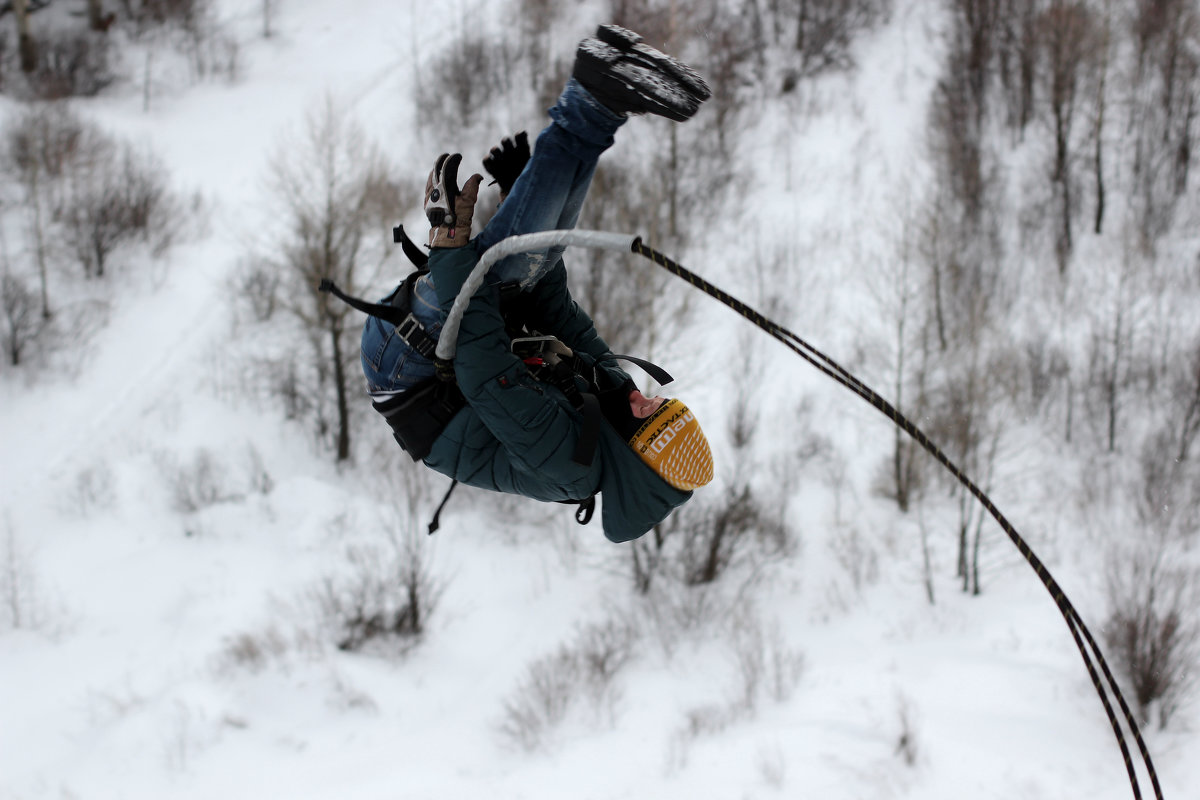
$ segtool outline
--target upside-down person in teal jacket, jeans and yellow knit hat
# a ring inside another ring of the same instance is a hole
[[[437,160],[425,187],[428,272],[410,284],[410,315],[368,318],[361,345],[374,407],[414,459],[469,486],[587,504],[581,522],[599,493],[613,542],[643,535],[713,479],[695,415],[678,399],[643,395],[571,297],[562,246],[492,265],[463,313],[452,384],[439,385],[428,347],[490,247],[575,227],[600,155],[630,115],[686,121],[709,94],[695,71],[637,34],[601,25],[580,43],[532,157],[521,133],[484,160],[502,200],[474,239],[482,176],[460,187],[462,156]]]

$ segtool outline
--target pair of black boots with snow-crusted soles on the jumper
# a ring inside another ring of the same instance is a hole
[[[608,110],[658,114],[683,122],[708,98],[703,78],[665,53],[641,44],[637,34],[614,25],[601,25],[598,32],[619,44],[583,40],[575,53],[574,74]]]

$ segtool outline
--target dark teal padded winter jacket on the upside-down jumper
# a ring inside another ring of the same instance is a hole
[[[443,312],[478,259],[474,243],[432,251],[430,271]],[[557,336],[583,359],[610,355],[571,299],[562,261],[524,294],[530,327]],[[604,533],[613,542],[637,539],[691,497],[659,477],[607,421],[592,463],[575,463],[582,415],[562,391],[534,379],[510,344],[497,288],[485,282],[463,314],[454,360],[467,407],[434,441],[428,467],[468,486],[536,500],[583,500],[599,492]],[[598,363],[596,373],[608,387],[629,380],[611,362]]]

